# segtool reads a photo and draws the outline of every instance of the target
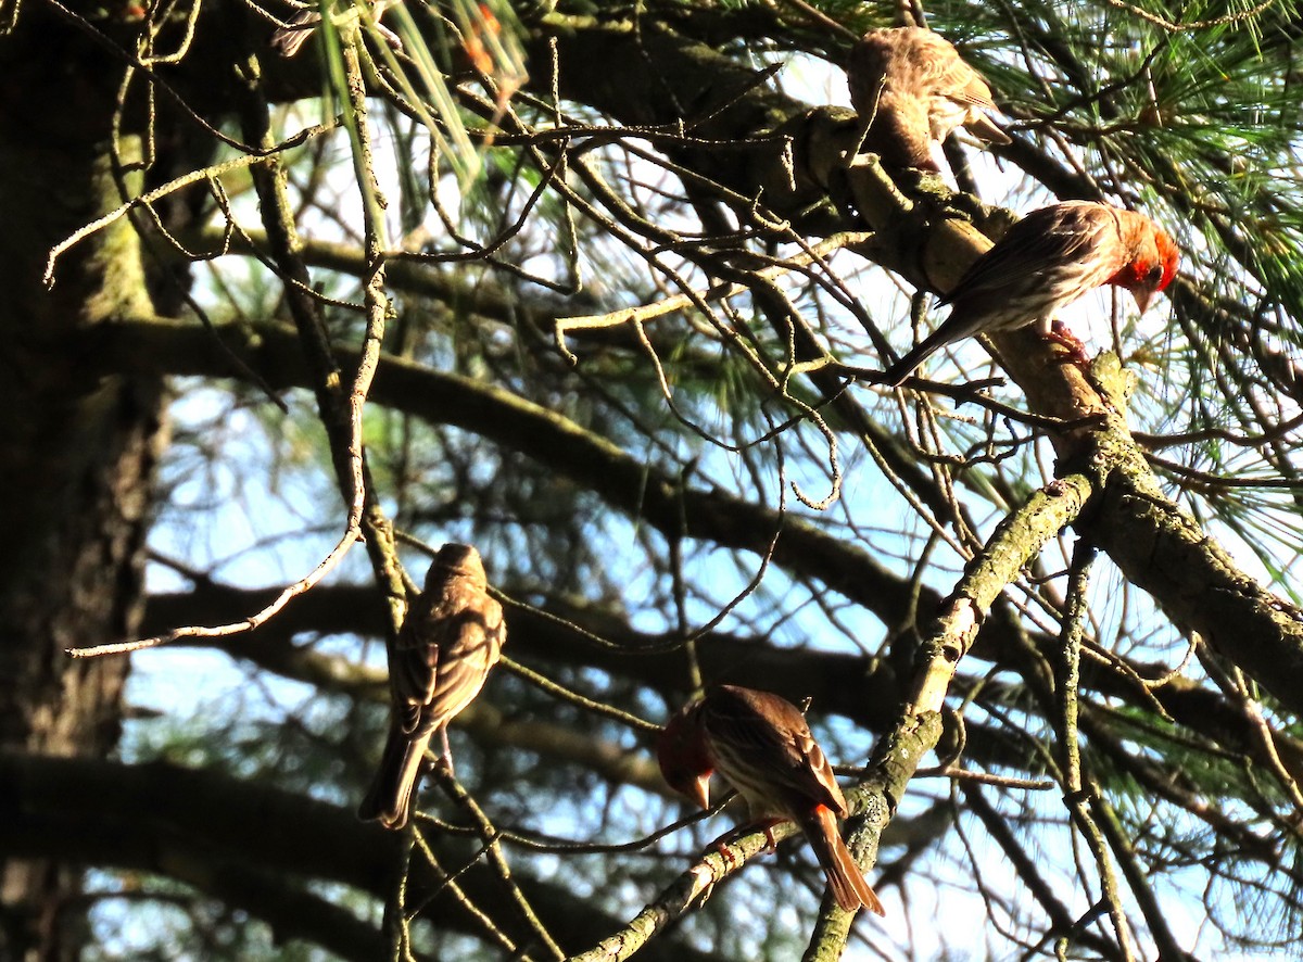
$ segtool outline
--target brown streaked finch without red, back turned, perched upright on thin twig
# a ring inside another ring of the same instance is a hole
[[[487,589],[474,547],[439,549],[390,652],[390,734],[360,819],[379,819],[391,829],[407,825],[435,733],[443,739],[442,761],[452,766],[448,722],[480,693],[507,637],[502,605]]]

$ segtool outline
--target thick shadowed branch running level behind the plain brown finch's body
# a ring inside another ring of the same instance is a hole
[[[206,583],[190,592],[152,596],[145,610],[142,631],[162,634],[185,619],[203,623],[225,623],[238,613],[257,610],[274,597],[275,588],[255,590]],[[939,598],[932,606],[934,610]],[[683,666],[675,650],[666,650],[670,634],[635,631],[628,620],[594,606],[573,606],[554,602],[551,614],[558,622],[530,609],[511,607],[511,649],[523,661],[541,667],[549,665],[588,666],[609,671],[620,678],[638,678],[665,692],[671,704],[681,701],[689,692],[683,690]],[[564,622],[571,622],[612,643],[614,647],[595,645]],[[326,585],[297,598],[275,620],[241,636],[210,640],[205,647],[218,648],[232,657],[245,658],[268,671],[293,678],[327,691],[347,692],[353,696],[383,693],[382,673],[361,667],[345,658],[322,654],[309,645],[293,644],[300,635],[322,636],[352,634],[364,637],[382,637],[384,610],[377,600],[375,589],[366,587]],[[969,658],[1020,666],[1024,661],[1023,637],[1015,637],[1002,618],[989,619]],[[1037,650],[1046,658],[1057,650],[1053,636],[1031,636]],[[646,652],[658,652],[648,654]],[[710,678],[723,678],[736,684],[769,688],[792,701],[813,700],[820,714],[839,714],[869,731],[886,731],[896,718],[900,692],[890,662],[860,654],[808,650],[804,648],[778,648],[761,639],[714,631],[697,641],[697,658],[702,671]],[[1177,725],[1197,733],[1203,738],[1235,752],[1261,757],[1259,733],[1244,713],[1229,704],[1218,692],[1186,678],[1171,678],[1154,688],[1143,688],[1140,679],[1166,675],[1167,666],[1138,663],[1123,660],[1127,671],[1118,671],[1097,661],[1083,665],[1083,688],[1117,699],[1139,710],[1154,707],[1166,713]],[[847,684],[847,679],[855,684]],[[998,701],[1010,696],[998,693],[998,686],[986,684],[986,691]],[[489,710],[489,709],[485,709]],[[477,734],[487,738],[489,725],[481,726],[478,709],[472,705],[464,721]],[[457,723],[457,722],[455,722]],[[512,740],[511,729],[498,733],[506,742]],[[1303,781],[1303,742],[1285,733],[1274,733],[1276,751],[1290,772]],[[563,742],[562,742],[563,743]],[[558,744],[552,743],[555,748]],[[625,778],[642,787],[659,787],[659,776],[650,770],[629,773],[628,757],[607,759],[603,750],[597,755],[579,752],[571,760],[593,768],[606,777]],[[969,726],[969,757],[986,765],[1019,764],[1023,748],[1011,744],[995,729]],[[615,768],[609,768],[615,765]],[[618,778],[619,780],[619,778]]]

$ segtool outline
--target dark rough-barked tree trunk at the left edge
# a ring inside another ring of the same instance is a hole
[[[99,378],[85,364],[100,325],[150,306],[138,239],[119,220],[60,258],[53,288],[42,276],[55,244],[121,203],[107,126],[120,76],[85,34],[38,10],[0,40],[0,748],[9,752],[104,756],[116,746],[126,658],[72,661],[64,649],[132,635],[142,607],[162,383]],[[117,146],[119,163],[139,150]],[[78,867],[5,855],[0,957],[76,958]]]

